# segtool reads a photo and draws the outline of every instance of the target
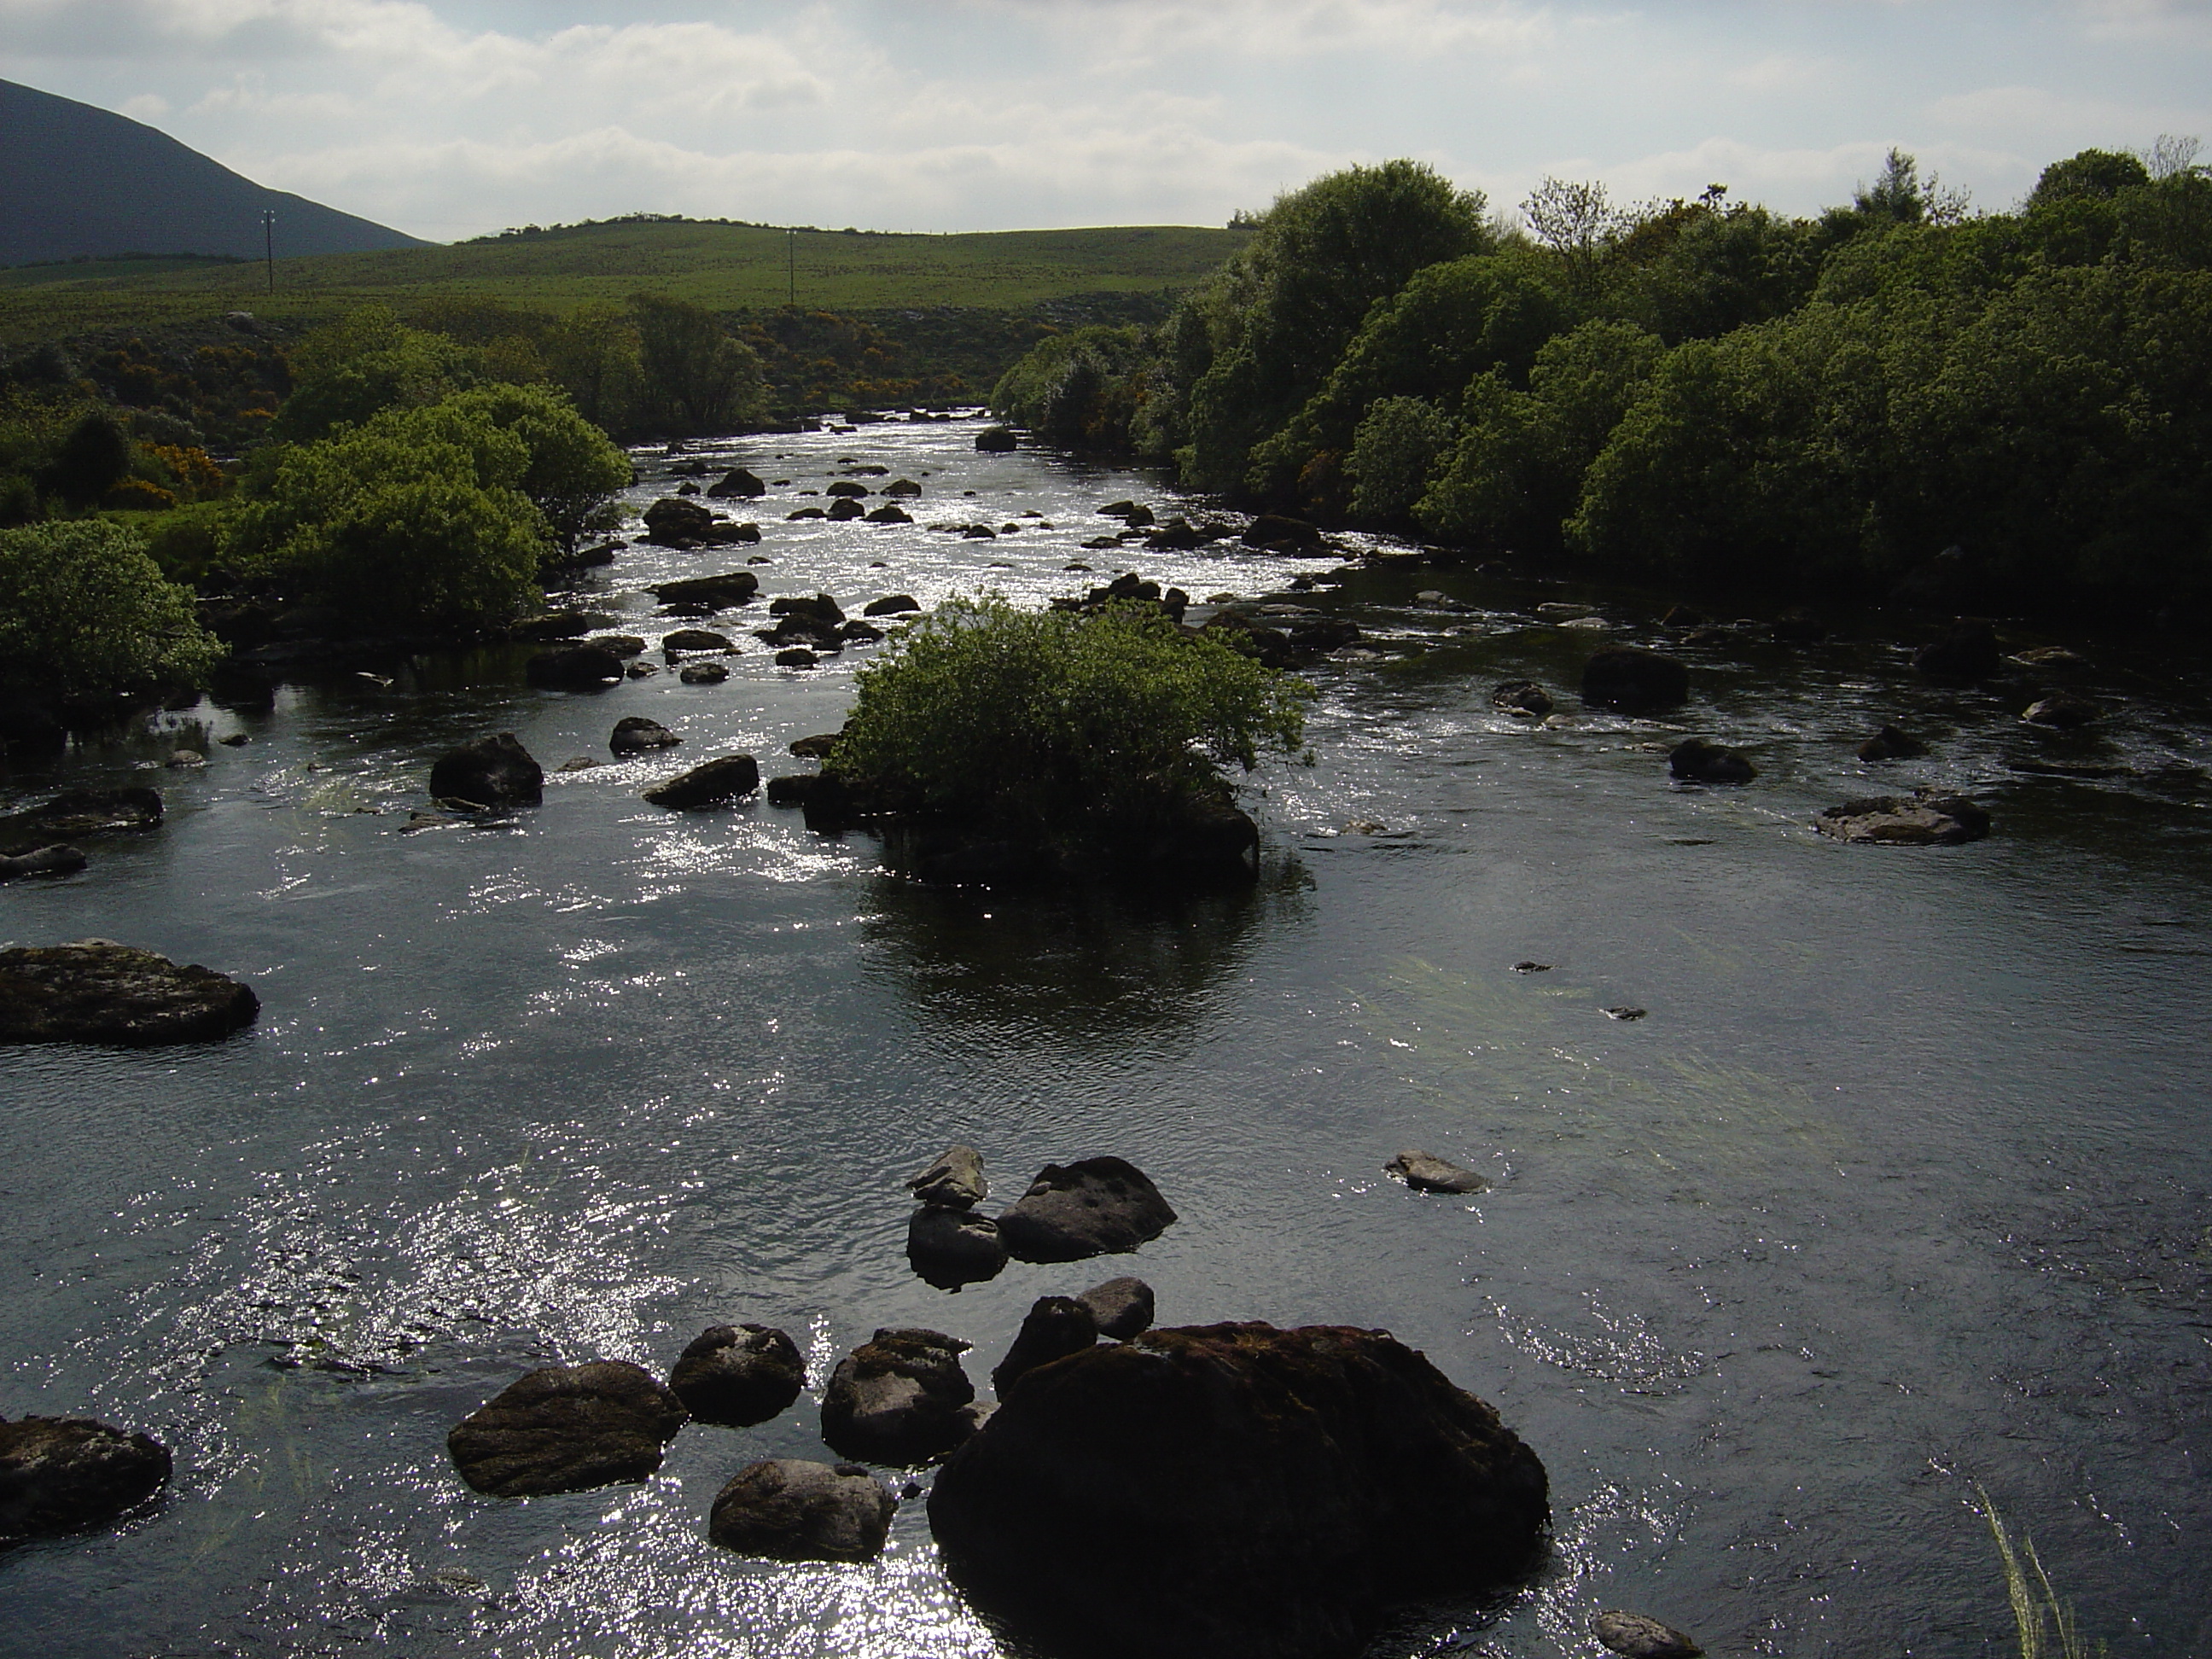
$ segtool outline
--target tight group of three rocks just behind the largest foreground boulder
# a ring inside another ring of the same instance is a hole
[[[991,1186],[982,1152],[951,1146],[907,1181],[907,1261],[938,1290],[995,1279],[1006,1261],[1086,1261],[1137,1250],[1175,1225],[1159,1188],[1119,1157],[1046,1164],[1002,1214],[975,1214]]]

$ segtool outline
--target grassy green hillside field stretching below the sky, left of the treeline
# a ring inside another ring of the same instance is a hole
[[[445,248],[279,259],[177,259],[0,270],[0,338],[157,327],[210,310],[325,316],[349,305],[498,299],[568,310],[639,290],[721,312],[796,301],[838,312],[900,305],[1018,310],[1071,294],[1190,288],[1245,243],[1243,230],[1113,226],[947,237],[699,221],[613,221]]]

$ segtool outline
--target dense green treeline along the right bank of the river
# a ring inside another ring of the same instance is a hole
[[[1042,343],[998,411],[1327,522],[1674,582],[2022,602],[2212,591],[2212,177],[2084,150],[1975,215],[1893,153],[1854,201],[1526,230],[1413,161],[1318,179],[1150,330]]]

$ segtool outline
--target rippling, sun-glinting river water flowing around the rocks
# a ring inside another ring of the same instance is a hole
[[[765,593],[847,608],[1042,602],[1130,564],[1250,597],[1329,568],[1084,553],[1102,502],[1166,507],[1157,480],[978,456],[973,431],[708,449],[790,480],[748,509],[763,546],[628,549],[588,604],[679,626],[639,584],[748,551]],[[847,458],[918,478],[920,522],[787,522]],[[668,489],[646,467],[637,504]],[[1022,529],[927,529],[947,520]],[[1657,639],[1679,595],[1389,566],[1294,597],[1369,639],[1310,670],[1318,763],[1256,774],[1265,865],[1230,896],[916,891],[867,836],[646,805],[717,752],[805,770],[783,745],[834,730],[869,655],[779,670],[745,633],[723,686],[540,692],[524,653],[487,653],[170,712],[7,776],[9,810],[168,799],[86,874],[0,889],[7,942],[206,962],[263,1018],[204,1048],[0,1053],[0,1413],[177,1453],[150,1515],[0,1557],[0,1652],[998,1652],[920,1502],[874,1566],[741,1559],[706,1511],[754,1458],[827,1455],[814,1398],[878,1325],[973,1343],[982,1383],[1035,1296],[1119,1272],[1161,1323],[1387,1327],[1544,1458],[1542,1577],[1409,1617],[1380,1655],[1595,1652],[1606,1606],[1717,1655],[2017,1652],[1978,1484],[2084,1632],[2212,1652],[2201,659],[2064,639],[2110,714],[2051,734],[2017,714],[2055,681],[1922,686],[1924,624],[1840,615],[1816,646],[1686,650],[1692,706],[1632,721],[1584,712],[1575,675],[1597,641]],[[1608,630],[1537,611],[1575,602]],[[1515,677],[1562,714],[1498,714]],[[606,761],[624,714],[684,748],[551,772]],[[1882,721],[1933,757],[1858,763]],[[493,730],[546,763],[544,807],[403,834],[429,761]],[[1688,732],[1761,779],[1668,783]],[[208,765],[148,770],[177,745]],[[2124,774],[2020,770],[2051,763]],[[1971,790],[1995,834],[1809,830],[1922,781]],[[1137,1256],[936,1292],[900,1181],[951,1139],[982,1148],[993,1206],[1113,1152],[1183,1219]],[[1413,1194],[1380,1172],[1409,1146],[1495,1188]],[[686,1429],[641,1486],[500,1502],[456,1478],[445,1431],[524,1369],[666,1371],[726,1321],[792,1332],[814,1396]]]

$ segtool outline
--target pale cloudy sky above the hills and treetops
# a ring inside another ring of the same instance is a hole
[[[1812,212],[1900,146],[2006,208],[2212,139],[2212,0],[0,0],[0,80],[434,241],[1223,223],[1394,155]]]

